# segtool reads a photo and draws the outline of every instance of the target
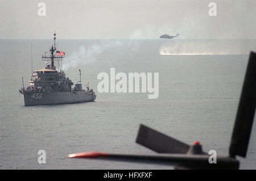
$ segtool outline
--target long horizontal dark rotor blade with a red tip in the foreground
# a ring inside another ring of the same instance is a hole
[[[179,166],[186,169],[238,169],[239,162],[234,158],[217,157],[217,163],[209,163],[210,155],[188,154],[113,154],[105,152],[84,152],[68,155],[68,158],[94,158],[138,163],[154,163]]]

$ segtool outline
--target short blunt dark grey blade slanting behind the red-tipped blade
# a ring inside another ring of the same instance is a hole
[[[189,145],[155,131],[154,129],[148,128],[143,124],[139,127],[136,142],[157,153],[186,154],[189,150]]]

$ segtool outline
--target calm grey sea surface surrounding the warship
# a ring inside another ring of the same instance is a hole
[[[172,166],[70,159],[81,151],[154,153],[135,143],[139,124],[204,151],[228,155],[250,50],[256,40],[58,40],[64,71],[89,82],[96,102],[25,107],[19,94],[52,40],[0,40],[0,169],[173,169]],[[61,64],[60,64],[61,65]],[[101,72],[159,73],[159,97],[99,93]],[[255,122],[255,121],[254,121]],[[46,151],[46,164],[38,151]],[[256,169],[256,124],[241,169]]]

